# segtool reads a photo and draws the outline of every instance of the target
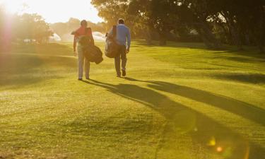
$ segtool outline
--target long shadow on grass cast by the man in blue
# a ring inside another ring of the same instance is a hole
[[[242,102],[240,100],[235,100],[221,95],[216,95],[204,90],[189,88],[187,86],[175,85],[172,83],[152,82],[152,85],[149,85],[149,87],[155,88],[156,90],[162,90],[167,93],[180,95],[184,98],[204,102],[208,105],[213,105],[214,107],[227,110],[228,112],[240,115],[245,119],[250,119],[253,122],[265,126],[265,111],[259,107],[250,105],[246,102]]]

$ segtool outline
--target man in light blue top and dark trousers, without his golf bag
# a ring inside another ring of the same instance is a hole
[[[109,35],[113,35],[113,30],[110,30]],[[119,54],[115,57],[115,68],[117,77],[121,77],[121,59],[122,59],[122,76],[126,76],[126,54],[129,53],[131,47],[131,33],[128,27],[124,25],[124,20],[119,19],[117,25],[117,36]]]

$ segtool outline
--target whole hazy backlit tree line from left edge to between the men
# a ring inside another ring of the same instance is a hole
[[[93,31],[105,33],[105,23],[92,23],[88,26]],[[57,33],[62,40],[72,40],[71,32],[80,27],[80,20],[70,18],[66,23],[49,24],[42,16],[36,13],[23,15],[6,13],[0,5],[0,42],[1,48],[8,47],[11,42],[16,43],[46,43],[49,37]]]

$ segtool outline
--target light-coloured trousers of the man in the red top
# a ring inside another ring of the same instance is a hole
[[[85,76],[89,78],[90,62],[83,55],[83,49],[78,45],[78,78],[83,78],[83,66],[85,61]]]

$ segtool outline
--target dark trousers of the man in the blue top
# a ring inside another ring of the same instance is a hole
[[[124,71],[126,70],[126,62],[127,62],[126,46],[119,45],[118,52],[119,54],[117,55],[117,57],[115,57],[115,68],[116,68],[117,75],[120,76],[121,75],[121,59],[122,59],[122,70]]]

